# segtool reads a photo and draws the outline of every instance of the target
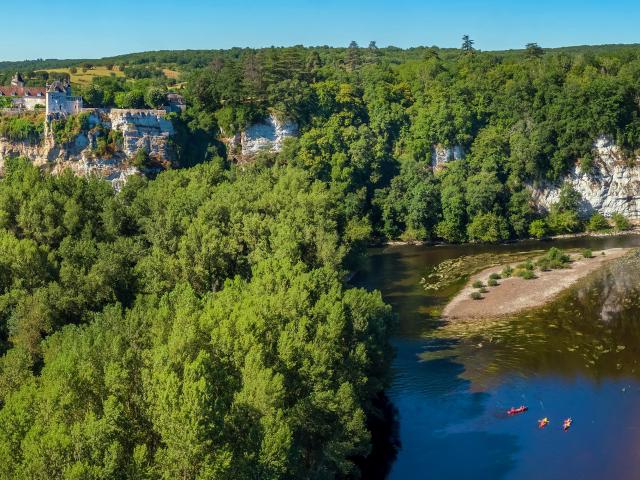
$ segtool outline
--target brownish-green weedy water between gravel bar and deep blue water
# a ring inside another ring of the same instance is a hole
[[[554,374],[638,377],[638,274],[640,253],[636,250],[543,307],[508,317],[447,323],[429,336],[447,340],[453,351],[430,349],[423,359],[455,355],[469,365],[465,375],[478,382],[478,387],[514,368],[525,375],[540,375],[553,367]],[[477,363],[480,345],[491,361],[477,369],[472,366]]]

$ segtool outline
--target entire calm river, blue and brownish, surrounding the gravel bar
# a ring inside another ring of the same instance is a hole
[[[398,315],[390,479],[640,478],[640,269],[617,266],[536,314],[443,326],[427,269],[476,253],[640,246],[640,237],[374,249],[354,282]],[[472,326],[473,327],[473,326]],[[529,411],[507,417],[511,406]],[[540,430],[537,420],[550,419]],[[572,417],[568,432],[562,420]]]

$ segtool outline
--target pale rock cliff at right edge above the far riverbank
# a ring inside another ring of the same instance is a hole
[[[576,165],[566,177],[583,198],[582,212],[595,211],[605,216],[618,212],[631,219],[640,219],[640,157],[629,166],[613,141],[599,137],[594,142],[595,167],[590,174]],[[533,191],[536,204],[548,210],[560,197],[560,185],[545,185]]]

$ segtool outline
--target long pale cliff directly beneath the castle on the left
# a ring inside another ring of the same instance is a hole
[[[173,150],[170,138],[174,135],[173,124],[164,117],[163,111],[155,110],[94,110],[89,112],[91,130],[78,135],[69,144],[56,145],[51,135],[38,144],[10,142],[0,138],[0,170],[8,157],[27,157],[34,164],[47,167],[54,173],[70,168],[78,175],[98,174],[120,189],[130,175],[140,171],[130,165],[130,159],[139,149],[145,150],[159,162],[171,162]],[[94,153],[101,125],[106,130],[122,133],[122,151],[110,158],[99,158]]]

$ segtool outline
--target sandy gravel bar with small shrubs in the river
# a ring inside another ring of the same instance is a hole
[[[572,256],[569,268],[536,271],[537,278],[525,280],[509,277],[499,280],[499,285],[489,287],[481,300],[471,294],[477,291],[474,282],[487,283],[489,275],[500,273],[501,267],[487,268],[470,277],[466,286],[447,304],[442,316],[447,320],[473,320],[514,314],[544,305],[578,280],[602,268],[606,263],[625,255],[629,248],[611,248],[593,252],[593,258]],[[604,252],[604,255],[602,253]]]

